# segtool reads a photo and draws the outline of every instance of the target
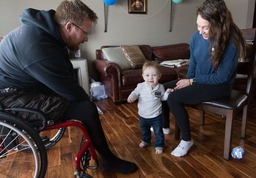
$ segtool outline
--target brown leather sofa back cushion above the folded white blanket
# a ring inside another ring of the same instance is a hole
[[[190,46],[187,43],[152,47],[153,58],[159,63],[190,58]]]

